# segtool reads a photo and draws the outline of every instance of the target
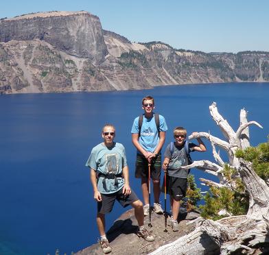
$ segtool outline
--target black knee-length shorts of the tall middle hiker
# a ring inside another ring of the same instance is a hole
[[[150,164],[150,176],[152,180],[160,180],[161,154],[158,154],[155,158],[152,158],[152,162]],[[148,160],[141,154],[137,154],[135,178],[148,179]]]

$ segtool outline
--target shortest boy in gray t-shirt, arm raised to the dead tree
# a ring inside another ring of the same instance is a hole
[[[194,136],[197,132],[192,133]],[[163,170],[168,171],[166,178],[167,194],[170,195],[170,204],[172,209],[172,217],[167,222],[168,226],[172,226],[173,231],[178,231],[178,213],[180,208],[180,200],[183,199],[187,191],[187,175],[188,169],[181,167],[189,165],[188,155],[185,147],[185,138],[187,130],[184,127],[176,127],[174,129],[174,145],[169,143],[165,149],[165,159],[163,160]],[[189,143],[190,151],[206,151],[204,143],[197,138],[198,144]],[[164,184],[163,184],[164,186]],[[163,187],[162,187],[163,191]]]

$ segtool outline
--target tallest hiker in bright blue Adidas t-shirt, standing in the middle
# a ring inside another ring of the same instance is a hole
[[[150,210],[148,191],[149,165],[150,177],[153,182],[154,210],[155,213],[163,213],[163,209],[159,203],[161,193],[161,148],[165,142],[165,131],[167,130],[167,125],[163,116],[154,114],[153,97],[147,96],[142,99],[142,109],[144,110],[143,119],[141,119],[141,117],[134,119],[131,133],[132,143],[137,148],[135,177],[141,178],[141,188],[145,203],[143,210],[144,215],[146,216],[149,215]],[[156,121],[157,117],[159,117],[159,121]]]

